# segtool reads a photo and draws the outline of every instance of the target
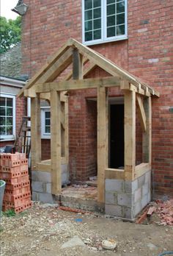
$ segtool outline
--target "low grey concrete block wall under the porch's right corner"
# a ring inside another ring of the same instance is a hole
[[[150,202],[151,171],[133,181],[106,179],[105,213],[133,219]]]

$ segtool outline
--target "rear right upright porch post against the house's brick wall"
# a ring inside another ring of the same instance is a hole
[[[142,161],[152,161],[152,102],[151,97],[144,98],[144,112],[146,115],[146,132],[142,134]]]

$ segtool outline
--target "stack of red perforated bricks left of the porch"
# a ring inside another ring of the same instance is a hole
[[[6,182],[3,210],[21,213],[32,207],[26,154],[0,154],[0,179]]]

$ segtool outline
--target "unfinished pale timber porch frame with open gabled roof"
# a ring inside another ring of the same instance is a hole
[[[73,63],[73,70],[65,79],[54,82]],[[96,66],[111,77],[86,79]],[[72,79],[73,78],[73,79]],[[108,88],[119,86],[125,97],[125,169],[108,168]],[[128,71],[107,60],[96,51],[70,39],[48,63],[21,90],[18,96],[32,98],[32,168],[51,171],[52,193],[61,192],[61,164],[68,163],[67,90],[97,88],[97,188],[98,202],[104,202],[105,179],[133,180],[151,168],[151,96],[159,96],[157,90],[141,82]],[[51,160],[41,161],[40,99],[51,102]],[[61,101],[65,107],[65,157],[61,155]],[[136,99],[141,120],[143,162],[136,166]],[[58,129],[57,129],[58,128]]]

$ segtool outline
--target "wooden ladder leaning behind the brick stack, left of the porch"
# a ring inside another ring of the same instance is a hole
[[[31,124],[29,124],[31,118],[29,116],[23,116],[21,128],[18,132],[18,136],[15,140],[14,146],[16,151],[20,153],[26,153],[26,157],[29,158],[31,150]]]

